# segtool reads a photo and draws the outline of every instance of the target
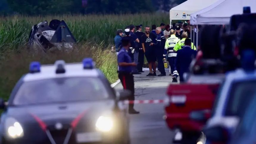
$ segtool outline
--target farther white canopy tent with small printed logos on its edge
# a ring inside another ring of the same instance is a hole
[[[218,0],[187,0],[170,10],[170,24],[172,20],[190,20],[191,13],[202,10]]]

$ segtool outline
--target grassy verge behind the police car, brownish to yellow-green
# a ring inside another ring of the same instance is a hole
[[[68,62],[82,62],[85,57],[92,57],[110,83],[118,79],[117,60],[115,53],[102,50],[102,45],[85,43],[79,46],[78,51],[58,54],[32,54],[25,50],[19,53],[9,53],[1,58],[0,62],[0,97],[7,100],[16,82],[22,75],[29,72],[29,64],[32,61],[40,61],[41,64],[53,64],[56,60]]]

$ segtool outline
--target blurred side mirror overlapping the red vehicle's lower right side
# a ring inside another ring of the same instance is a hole
[[[210,118],[210,110],[192,111],[190,113],[190,119],[196,121],[206,121]]]

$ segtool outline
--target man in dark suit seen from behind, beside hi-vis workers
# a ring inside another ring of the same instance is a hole
[[[185,46],[177,51],[177,70],[179,71],[180,82],[184,82],[183,74],[189,72],[189,66],[197,52],[191,48],[191,39],[187,38],[184,42]]]

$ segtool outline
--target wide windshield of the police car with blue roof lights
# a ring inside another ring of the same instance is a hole
[[[99,78],[55,78],[24,82],[13,100],[13,105],[96,101],[107,98],[110,98],[110,94]]]

